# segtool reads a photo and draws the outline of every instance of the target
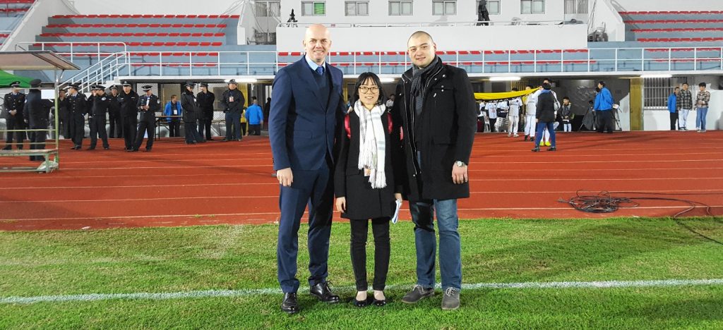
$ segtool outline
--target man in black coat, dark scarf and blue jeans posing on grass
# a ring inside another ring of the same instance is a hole
[[[417,282],[402,301],[416,303],[434,295],[436,210],[442,309],[453,310],[460,305],[462,285],[457,199],[469,197],[467,164],[476,131],[476,103],[467,72],[443,64],[427,32],[414,32],[407,48],[412,68],[397,85],[392,112],[404,136],[397,154],[406,166],[395,169],[402,172],[395,178],[401,178],[415,224]]]

